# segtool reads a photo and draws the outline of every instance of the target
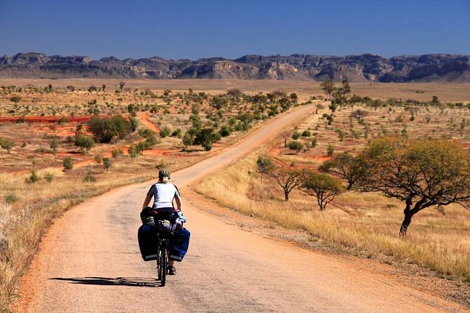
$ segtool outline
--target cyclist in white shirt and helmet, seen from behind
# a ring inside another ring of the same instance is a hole
[[[178,210],[181,211],[182,209],[180,192],[169,180],[170,172],[166,169],[160,169],[160,171],[158,171],[158,182],[150,187],[149,192],[147,192],[147,197],[145,197],[144,204],[142,205],[142,210],[144,210],[153,197],[152,209],[156,212],[156,221],[158,221],[159,225],[170,225],[171,217],[175,210],[173,200],[175,200]],[[170,266],[168,270],[170,275],[176,274],[174,263],[175,261],[173,260],[169,262]]]

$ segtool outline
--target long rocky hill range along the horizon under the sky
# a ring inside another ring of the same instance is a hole
[[[350,82],[470,82],[469,55],[245,55],[238,59],[123,59],[18,53],[0,57],[0,77],[327,79]]]

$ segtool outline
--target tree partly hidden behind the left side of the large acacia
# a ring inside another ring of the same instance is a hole
[[[350,190],[364,176],[364,164],[359,158],[355,158],[347,152],[333,155],[319,167],[320,171],[336,173],[348,182],[346,189]]]

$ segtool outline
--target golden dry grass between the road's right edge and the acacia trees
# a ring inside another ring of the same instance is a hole
[[[254,173],[255,161],[252,155],[203,180],[196,190],[243,214],[308,231],[312,240],[343,252],[385,255],[470,280],[470,212],[449,207],[442,216],[427,209],[400,238],[402,203],[373,193],[344,193],[320,212],[313,198],[297,190],[284,202],[274,182],[261,182]]]

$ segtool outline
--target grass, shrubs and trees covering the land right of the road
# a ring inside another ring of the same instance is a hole
[[[323,90],[329,104],[196,191],[332,249],[470,283],[469,104]]]

